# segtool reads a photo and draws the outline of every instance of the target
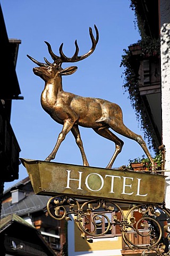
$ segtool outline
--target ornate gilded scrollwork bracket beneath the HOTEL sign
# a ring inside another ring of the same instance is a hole
[[[81,231],[81,237],[89,243],[92,243],[93,237],[103,236],[112,230],[113,226],[119,226],[123,241],[129,249],[143,249],[142,256],[146,256],[147,252],[155,252],[157,255],[170,254],[167,245],[164,244],[166,240],[170,241],[168,224],[170,212],[165,205],[129,205],[127,213],[127,210],[123,211],[121,204],[111,200],[91,199],[82,202],[82,200],[78,201],[73,197],[60,196],[49,199],[47,210],[49,215],[56,220],[69,221],[71,220],[69,215],[73,214],[74,221]],[[141,215],[138,221],[134,217],[136,211]],[[115,213],[112,220],[108,218],[108,212]],[[116,212],[121,213],[121,218],[117,218]],[[126,213],[124,214],[124,212]],[[163,215],[164,220],[162,220]],[[96,230],[103,224],[102,217],[105,220],[105,231],[99,234]],[[86,228],[89,224],[91,227]],[[166,233],[166,236],[163,236],[163,233]],[[139,241],[138,237],[145,238],[148,243],[135,243],[135,240]]]

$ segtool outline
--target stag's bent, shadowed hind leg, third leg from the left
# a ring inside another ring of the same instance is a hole
[[[99,135],[101,135],[102,137],[108,139],[108,140],[111,140],[113,142],[115,142],[115,151],[114,151],[114,154],[111,158],[111,161],[108,163],[108,165],[106,166],[106,169],[111,169],[112,168],[112,165],[117,157],[117,155],[119,153],[121,153],[122,151],[122,147],[123,147],[123,144],[124,142],[119,139],[115,134],[113,134],[109,129],[108,127],[107,128],[98,128],[98,129],[93,129],[96,133],[98,133]]]

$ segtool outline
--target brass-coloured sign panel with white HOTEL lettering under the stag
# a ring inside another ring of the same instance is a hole
[[[20,158],[37,195],[163,203],[165,176]]]

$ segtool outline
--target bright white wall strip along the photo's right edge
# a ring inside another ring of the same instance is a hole
[[[170,1],[160,0],[160,55],[162,77],[163,144],[166,148],[166,208],[170,209]]]

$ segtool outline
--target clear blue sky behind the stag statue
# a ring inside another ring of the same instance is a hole
[[[44,43],[47,41],[56,55],[64,43],[63,52],[71,57],[77,39],[79,55],[82,55],[91,47],[89,27],[95,35],[94,25],[99,30],[96,50],[89,58],[76,63],[78,70],[73,75],[63,77],[63,89],[117,103],[122,108],[124,124],[143,136],[128,93],[124,93],[122,87],[123,49],[140,39],[129,0],[1,0],[1,6],[8,38],[21,39],[16,74],[24,100],[13,100],[11,114],[11,124],[21,148],[20,157],[44,160],[62,130],[62,125],[53,121],[40,105],[44,81],[33,74],[32,68],[36,65],[27,54],[40,62],[44,62],[44,57],[52,61]],[[69,67],[69,63],[66,66]],[[106,167],[114,153],[114,143],[92,129],[80,127],[80,133],[90,166]],[[124,147],[113,167],[127,165],[129,159],[144,154],[137,142],[118,137],[124,141]],[[53,162],[82,165],[72,133],[67,134]],[[5,189],[28,176],[22,164],[19,168],[19,180],[6,182]]]

